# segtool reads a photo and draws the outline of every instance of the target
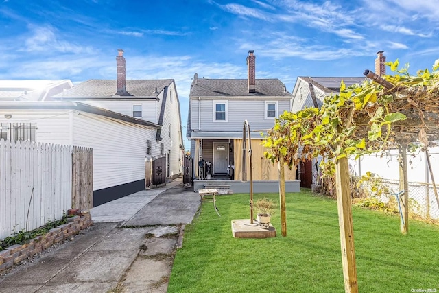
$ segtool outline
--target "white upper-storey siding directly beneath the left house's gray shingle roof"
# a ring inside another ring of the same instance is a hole
[[[159,96],[159,98],[161,97]],[[142,105],[142,117],[136,117],[136,118],[147,120],[153,123],[158,122],[158,113],[160,113],[159,112],[160,108],[158,108],[158,102],[156,101],[156,99],[152,99],[152,100],[126,99],[123,101],[112,101],[112,100],[100,101],[99,99],[87,99],[80,102],[84,102],[85,104],[88,105],[104,108],[131,117],[132,117],[132,106]]]

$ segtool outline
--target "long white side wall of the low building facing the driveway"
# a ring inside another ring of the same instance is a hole
[[[145,178],[146,141],[154,151],[155,130],[88,113],[73,122],[73,145],[93,148],[94,190]]]

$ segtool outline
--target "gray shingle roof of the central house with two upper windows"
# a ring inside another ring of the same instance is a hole
[[[285,89],[278,79],[257,79],[256,93],[248,93],[247,80],[216,80],[209,78],[197,78],[191,85],[189,96],[271,96],[290,97],[291,93]]]

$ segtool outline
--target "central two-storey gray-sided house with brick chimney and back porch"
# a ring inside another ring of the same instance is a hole
[[[197,73],[193,77],[187,138],[194,165],[202,160],[211,163],[211,179],[241,180],[242,134],[247,120],[252,130],[253,179],[278,184],[278,167],[263,157],[261,132],[266,133],[274,119],[289,110],[292,96],[278,79],[255,78],[255,58],[249,51],[248,79],[198,78]],[[195,167],[195,181],[210,177],[205,170]],[[295,180],[295,176],[295,169],[287,170],[287,179]],[[202,187],[195,181],[195,190]]]

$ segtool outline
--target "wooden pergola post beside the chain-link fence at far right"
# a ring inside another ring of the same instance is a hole
[[[407,146],[400,142],[398,146],[399,156],[399,191],[403,191],[401,198],[401,233],[409,233],[409,183],[407,179]],[[400,196],[399,194],[396,196]],[[399,200],[399,199],[397,199]]]

